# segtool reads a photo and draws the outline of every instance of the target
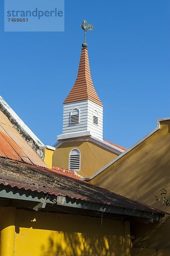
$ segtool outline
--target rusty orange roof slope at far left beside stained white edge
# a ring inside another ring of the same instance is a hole
[[[0,157],[48,168],[1,111]]]

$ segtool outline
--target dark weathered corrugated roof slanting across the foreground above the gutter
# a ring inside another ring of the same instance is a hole
[[[57,174],[52,169],[2,157],[0,157],[0,184],[117,207],[165,213],[85,181]]]

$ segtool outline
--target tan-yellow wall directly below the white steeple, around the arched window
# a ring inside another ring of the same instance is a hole
[[[118,155],[91,141],[65,142],[54,151],[52,165],[69,169],[69,152],[78,148],[81,152],[81,170],[78,175],[89,177]]]

